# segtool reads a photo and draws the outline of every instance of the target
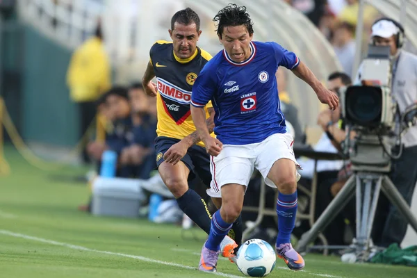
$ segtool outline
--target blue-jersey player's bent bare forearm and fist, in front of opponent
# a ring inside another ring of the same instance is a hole
[[[208,126],[206,124],[206,111],[204,111],[204,108],[192,105],[191,116],[193,117],[195,129],[197,129],[199,138],[201,138],[201,140],[204,142],[204,145],[206,145],[208,154],[211,154],[212,156],[218,156],[222,150],[222,142],[216,138],[211,137],[211,132],[208,130]]]

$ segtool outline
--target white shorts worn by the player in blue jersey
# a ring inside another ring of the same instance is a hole
[[[281,158],[295,160],[293,151],[293,136],[290,133],[275,133],[265,140],[248,145],[223,145],[218,156],[210,157],[211,186],[207,194],[211,197],[221,197],[220,188],[228,183],[237,183],[247,186],[254,168],[265,179],[268,186],[276,188],[275,184],[267,178],[272,165]],[[296,180],[300,174],[295,170]]]

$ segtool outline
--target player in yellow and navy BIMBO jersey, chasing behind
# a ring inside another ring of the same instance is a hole
[[[177,199],[181,210],[207,234],[210,233],[211,215],[204,199],[188,187],[188,179],[195,173],[210,188],[210,156],[204,149],[190,113],[193,84],[211,55],[197,47],[202,31],[200,19],[190,8],[179,10],[171,19],[169,30],[172,42],[158,41],[150,50],[150,60],[142,78],[147,95],[157,97],[158,125],[155,140],[156,164],[167,188]],[[156,84],[152,79],[156,76]],[[214,109],[208,103],[206,123],[213,134]],[[220,206],[221,199],[213,199]],[[242,238],[242,221],[238,218],[232,227],[238,244]],[[229,256],[236,248],[228,236],[221,244],[222,255]]]

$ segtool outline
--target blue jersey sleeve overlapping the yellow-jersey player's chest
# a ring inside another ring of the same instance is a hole
[[[215,82],[215,74],[207,67],[208,64],[204,66],[193,85],[191,105],[196,107],[204,107],[206,104],[213,106],[210,100],[213,98],[217,83]]]

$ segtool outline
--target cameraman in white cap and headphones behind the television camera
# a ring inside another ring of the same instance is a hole
[[[377,46],[391,48],[392,94],[398,103],[400,113],[407,106],[417,101],[417,56],[402,50],[404,44],[404,28],[393,19],[378,19],[372,26],[371,40]],[[357,73],[355,84],[360,83],[361,67]],[[414,187],[417,181],[417,126],[411,127],[402,136],[402,155],[393,161],[391,180],[411,204]],[[395,151],[394,151],[395,152]],[[390,204],[386,222],[380,239],[375,239],[377,245],[388,247],[391,243],[401,244],[407,231],[407,220],[400,211]]]

